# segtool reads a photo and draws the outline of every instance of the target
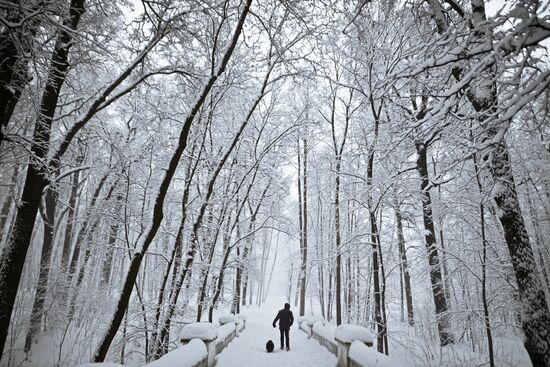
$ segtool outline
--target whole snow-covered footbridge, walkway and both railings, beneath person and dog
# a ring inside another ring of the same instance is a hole
[[[290,331],[290,351],[280,350],[279,330],[271,326],[276,313],[274,306],[264,305],[248,308],[240,317],[222,316],[219,326],[190,324],[187,331],[184,328],[182,346],[145,367],[403,366],[373,348],[367,329],[335,327],[316,316],[297,317]],[[268,340],[275,344],[273,353],[265,349]]]

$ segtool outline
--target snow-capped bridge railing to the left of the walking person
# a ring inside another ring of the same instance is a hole
[[[182,345],[144,367],[213,367],[216,355],[239,335],[246,326],[245,315],[224,315],[219,326],[196,322],[183,327]],[[124,367],[117,363],[87,363],[77,367]]]

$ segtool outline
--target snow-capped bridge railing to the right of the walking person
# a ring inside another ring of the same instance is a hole
[[[301,316],[299,328],[338,358],[338,367],[402,367],[403,363],[372,348],[374,337],[365,327],[327,325],[318,316]]]

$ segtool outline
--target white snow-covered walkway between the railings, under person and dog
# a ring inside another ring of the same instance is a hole
[[[217,357],[217,367],[334,367],[336,357],[314,339],[298,329],[295,322],[290,329],[290,351],[279,349],[279,329],[271,326],[281,304],[265,304],[250,307],[244,311],[247,315],[246,329],[235,338]],[[297,318],[297,311],[293,310]],[[275,351],[267,353],[265,343],[273,340]]]

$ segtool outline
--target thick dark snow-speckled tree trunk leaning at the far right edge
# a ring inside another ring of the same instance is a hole
[[[487,17],[483,0],[471,0],[473,25],[483,27]],[[536,13],[536,3],[526,2],[525,12]],[[442,12],[438,0],[430,0],[432,15],[436,21],[438,32],[445,34],[449,23]],[[479,42],[486,42],[487,33],[473,32]],[[489,33],[490,36],[490,33]],[[479,114],[478,121],[484,130],[482,141],[494,141],[488,152],[484,152],[483,160],[489,163],[489,172],[494,181],[492,196],[498,208],[498,219],[504,231],[504,238],[512,260],[512,266],[518,284],[519,298],[522,308],[522,328],[525,334],[524,345],[533,366],[550,367],[550,310],[544,294],[544,288],[538,277],[537,264],[531,247],[525,221],[519,205],[517,189],[512,175],[512,165],[504,136],[498,140],[500,129],[494,126],[498,118],[498,96],[494,64],[489,70],[478,71],[476,87],[486,89],[484,97],[478,98],[472,90],[467,90],[466,96],[472,107]],[[461,73],[453,73],[459,79]],[[493,126],[491,126],[493,124]],[[495,141],[497,140],[497,141]]]

